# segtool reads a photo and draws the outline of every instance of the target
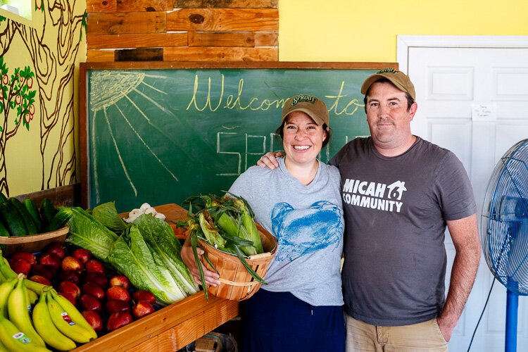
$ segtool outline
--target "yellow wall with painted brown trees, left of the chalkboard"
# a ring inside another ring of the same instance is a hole
[[[86,58],[86,3],[53,5],[54,0],[37,0],[35,8],[32,1],[31,20],[0,11],[0,57],[6,70],[2,82],[8,82],[4,87],[11,87],[18,69],[28,68],[34,93],[34,114],[27,127],[18,122],[18,105],[0,113],[0,191],[6,196],[64,186],[79,178],[77,68]],[[4,106],[16,101],[16,94],[7,95]]]

